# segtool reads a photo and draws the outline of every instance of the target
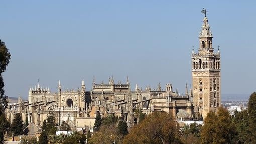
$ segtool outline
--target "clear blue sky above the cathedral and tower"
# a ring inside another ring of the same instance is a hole
[[[57,91],[126,81],[132,88],[191,84],[191,50],[198,48],[202,8],[213,47],[220,45],[221,90],[255,91],[255,1],[2,1],[0,39],[12,54],[6,95],[28,96],[40,84]]]

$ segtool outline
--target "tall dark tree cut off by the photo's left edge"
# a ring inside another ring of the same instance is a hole
[[[5,95],[5,90],[4,90],[4,79],[2,73],[6,71],[6,67],[8,66],[9,62],[11,59],[11,54],[8,52],[8,49],[6,48],[6,45],[4,42],[0,40],[0,143],[3,143],[4,141],[4,134],[8,130],[8,124],[9,122],[7,121],[5,117],[5,109],[7,108],[7,96]]]

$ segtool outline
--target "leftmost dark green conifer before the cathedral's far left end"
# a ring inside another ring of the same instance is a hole
[[[23,120],[21,118],[21,114],[17,113],[15,114],[13,123],[11,124],[11,132],[13,132],[14,136],[16,135],[22,135],[23,134]]]

